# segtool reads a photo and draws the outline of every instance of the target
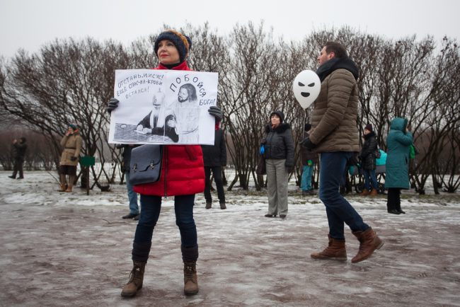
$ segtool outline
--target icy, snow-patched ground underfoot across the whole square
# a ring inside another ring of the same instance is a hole
[[[357,264],[347,229],[347,262],[312,260],[327,243],[321,201],[289,185],[287,219],[268,219],[265,191],[226,192],[226,210],[195,199],[200,293],[183,296],[180,238],[164,199],[144,287],[122,299],[132,268],[135,221],[125,185],[111,192],[57,192],[47,172],[11,180],[0,172],[0,306],[460,306],[460,195],[404,192],[407,214],[386,198],[347,199],[385,241]],[[53,173],[55,176],[55,174]],[[229,176],[229,179],[231,176]]]

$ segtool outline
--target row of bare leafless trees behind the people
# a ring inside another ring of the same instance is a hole
[[[407,117],[420,150],[410,171],[413,187],[423,193],[430,175],[435,192],[439,188],[454,192],[459,187],[460,60],[455,40],[444,37],[435,42],[432,37],[417,40],[415,36],[391,40],[345,27],[315,30],[304,40],[285,41],[272,37],[263,24],[252,23],[235,25],[225,37],[206,23],[180,30],[192,37],[192,69],[219,73],[219,106],[236,169],[229,189],[236,183],[247,189],[251,178],[256,188],[263,185],[255,166],[272,110],[284,112],[299,144],[311,110],[302,109],[294,99],[292,81],[301,70],[316,70],[316,57],[328,40],[342,42],[360,67],[360,131],[371,123],[379,145],[386,149],[391,119]],[[106,141],[105,103],[113,96],[114,72],[156,66],[152,42],[157,34],[128,48],[91,38],[55,40],[36,54],[19,50],[12,59],[2,59],[1,118],[40,134],[54,163],[67,124],[79,122],[83,154],[96,156],[102,166],[93,168],[93,178],[113,181],[120,171],[113,161],[120,161],[120,153]],[[299,161],[299,154],[296,158]],[[295,175],[299,177],[299,168]]]

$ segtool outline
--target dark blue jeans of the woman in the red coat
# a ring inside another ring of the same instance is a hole
[[[180,231],[180,242],[183,248],[197,247],[197,227],[193,219],[195,194],[174,197],[176,225]],[[141,195],[141,216],[134,235],[134,243],[151,243],[156,222],[161,211],[161,196]]]

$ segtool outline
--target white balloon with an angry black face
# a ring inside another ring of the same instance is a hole
[[[321,81],[316,72],[304,70],[294,79],[294,96],[301,107],[306,109],[316,100],[321,91]]]

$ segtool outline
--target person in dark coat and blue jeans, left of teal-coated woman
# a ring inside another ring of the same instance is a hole
[[[360,195],[376,196],[378,194],[377,176],[375,175],[375,153],[378,150],[375,133],[372,131],[372,124],[367,124],[364,127],[364,144],[362,145],[360,159],[361,167],[364,173],[364,190]]]

